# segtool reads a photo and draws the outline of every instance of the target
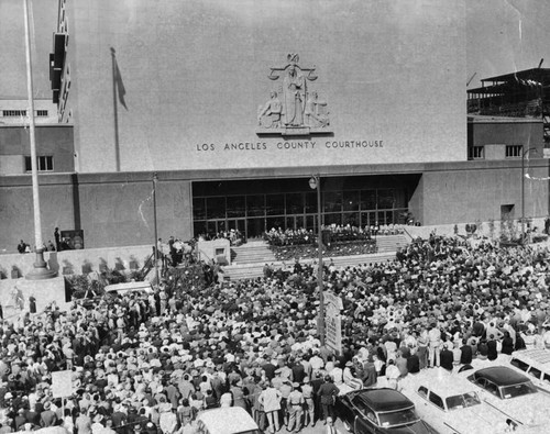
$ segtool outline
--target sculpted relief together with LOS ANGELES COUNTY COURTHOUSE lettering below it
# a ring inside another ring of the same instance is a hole
[[[275,81],[276,86],[272,88],[267,102],[258,107],[256,135],[258,137],[278,136],[280,140],[200,143],[196,144],[196,151],[262,152],[272,148],[341,151],[384,147],[382,140],[322,138],[323,136],[332,137],[333,131],[330,125],[328,102],[312,85],[318,78],[315,69],[315,66],[301,67],[297,54],[289,54],[286,65],[271,68],[267,78]],[[304,140],[289,140],[289,137],[304,137]]]

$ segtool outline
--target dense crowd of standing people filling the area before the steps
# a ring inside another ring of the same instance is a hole
[[[549,252],[432,235],[395,260],[324,265],[342,300],[342,350],[317,333],[317,265],[207,289],[153,292],[26,314],[0,326],[0,430],[195,433],[200,412],[238,405],[270,432],[331,423],[334,397],[398,389],[407,375],[550,347]],[[52,372],[73,393],[54,397]]]

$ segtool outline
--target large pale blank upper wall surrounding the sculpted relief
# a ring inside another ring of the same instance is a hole
[[[69,1],[77,170],[465,160],[464,3]],[[328,133],[256,134],[258,107],[283,86],[267,76],[289,53],[316,66]]]

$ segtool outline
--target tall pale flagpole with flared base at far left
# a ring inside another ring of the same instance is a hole
[[[29,0],[24,0],[25,18],[25,55],[26,55],[26,93],[29,97],[29,131],[31,141],[31,174],[33,190],[33,213],[34,213],[34,249],[36,258],[34,269],[26,275],[29,280],[51,279],[56,276],[55,271],[47,268],[44,260],[44,243],[42,242],[42,221],[40,215],[40,196],[38,196],[38,168],[36,159],[36,138],[34,134],[34,99],[33,99],[33,75],[31,58],[31,34],[29,24]]]

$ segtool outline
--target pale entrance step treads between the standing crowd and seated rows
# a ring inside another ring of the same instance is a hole
[[[328,264],[331,259],[337,267],[354,267],[361,264],[381,264],[388,260],[394,260],[395,251],[371,255],[336,256],[331,258],[324,258],[323,261],[324,264]],[[314,261],[314,259],[304,259],[300,263],[309,264],[311,261]],[[265,263],[271,264],[274,269],[283,267],[283,263],[278,260],[263,260],[252,264],[231,265],[229,267],[223,267],[223,277],[229,280],[244,280],[262,277],[264,275],[263,267]],[[293,267],[294,261],[287,261],[286,266]]]

